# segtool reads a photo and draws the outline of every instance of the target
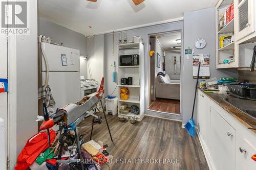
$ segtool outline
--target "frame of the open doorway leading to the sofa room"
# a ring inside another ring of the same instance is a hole
[[[181,33],[181,68],[180,68],[180,114],[175,114],[175,113],[165,113],[165,112],[161,112],[161,111],[155,111],[155,110],[151,110],[149,109],[150,105],[149,105],[149,99],[150,98],[146,98],[145,99],[145,104],[146,104],[146,115],[148,116],[153,116],[153,117],[160,117],[160,118],[167,118],[167,119],[174,119],[174,120],[178,120],[178,121],[182,121],[182,107],[183,107],[183,86],[182,86],[182,83],[183,83],[183,70],[184,70],[184,47],[183,47],[183,43],[184,43],[184,37],[183,37],[183,29],[179,29],[179,30],[169,30],[169,31],[165,31],[165,32],[156,32],[156,33],[150,33],[148,34],[147,36],[147,54],[145,55],[147,58],[150,58],[150,36],[153,36],[153,35],[157,35],[157,34],[165,34],[165,33],[170,33],[170,32],[180,32]],[[145,72],[147,72],[147,93],[148,93],[148,96],[151,95],[151,92],[150,92],[150,69],[151,69],[151,66],[150,66],[150,59],[148,59],[148,62],[147,62],[147,65],[148,67],[145,69]]]

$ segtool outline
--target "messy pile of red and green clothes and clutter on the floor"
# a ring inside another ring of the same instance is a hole
[[[58,169],[73,170],[79,169],[80,164],[74,161],[78,158],[77,146],[75,145],[75,136],[70,131],[68,138],[65,141],[62,151],[58,138],[61,132],[50,130],[51,147],[48,144],[47,132],[39,132],[32,136],[26,143],[22,152],[18,155],[16,170],[54,170],[57,164],[57,155],[61,152],[61,160],[70,160],[69,163],[59,163]],[[80,139],[82,148],[81,156],[83,159],[83,167],[85,170],[100,170],[100,164],[106,163],[109,159],[109,153],[106,152],[106,147],[103,142],[95,142],[91,140],[87,143]],[[73,161],[71,161],[73,159]],[[72,163],[75,162],[75,163]]]

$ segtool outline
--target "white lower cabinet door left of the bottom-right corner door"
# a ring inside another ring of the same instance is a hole
[[[211,108],[211,157],[216,169],[235,169],[236,131]]]

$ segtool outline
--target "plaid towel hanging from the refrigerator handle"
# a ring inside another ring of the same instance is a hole
[[[44,90],[44,89],[45,89],[45,86],[41,86],[38,89],[38,100],[44,98],[46,107],[55,105],[56,102],[53,99],[52,90],[51,90],[50,86],[48,85],[46,87],[46,90]]]

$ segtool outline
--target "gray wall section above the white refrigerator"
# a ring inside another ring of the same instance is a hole
[[[66,47],[80,50],[80,54],[87,54],[87,41],[83,34],[59,26],[45,18],[38,17],[38,34],[52,38],[52,42],[63,43]]]

